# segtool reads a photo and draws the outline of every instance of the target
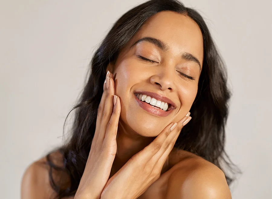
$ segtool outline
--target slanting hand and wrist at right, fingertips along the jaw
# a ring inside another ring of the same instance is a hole
[[[190,112],[178,123],[169,124],[149,145],[132,156],[105,185],[101,198],[136,199],[160,177],[164,162],[180,134],[191,119]],[[171,125],[174,128],[170,129]],[[171,131],[172,130],[172,131]]]

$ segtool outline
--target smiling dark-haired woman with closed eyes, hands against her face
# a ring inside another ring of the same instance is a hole
[[[230,93],[198,12],[145,2],[90,65],[69,142],[28,167],[22,198],[231,198]]]

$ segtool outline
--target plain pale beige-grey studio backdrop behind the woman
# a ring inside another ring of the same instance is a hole
[[[20,198],[33,161],[62,143],[94,50],[137,0],[2,0],[1,198]],[[271,198],[271,1],[186,0],[210,28],[233,96],[226,151],[243,174],[234,199]]]

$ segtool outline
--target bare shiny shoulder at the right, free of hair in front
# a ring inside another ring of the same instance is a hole
[[[169,177],[167,198],[231,199],[225,174],[205,159],[186,152]]]

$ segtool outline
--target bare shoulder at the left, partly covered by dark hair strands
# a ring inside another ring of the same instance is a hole
[[[50,154],[50,160],[57,166],[62,166],[62,155],[60,152]],[[49,165],[46,157],[43,157],[26,168],[21,180],[21,198],[42,199],[54,198],[56,193],[50,185]],[[57,175],[52,172],[52,175]]]

